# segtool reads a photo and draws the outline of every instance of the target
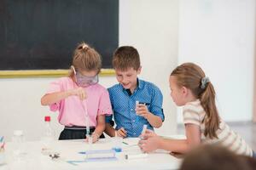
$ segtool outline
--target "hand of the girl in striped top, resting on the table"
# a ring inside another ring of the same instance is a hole
[[[159,149],[160,136],[152,136],[148,139],[140,140],[138,145],[144,152],[150,152]]]

